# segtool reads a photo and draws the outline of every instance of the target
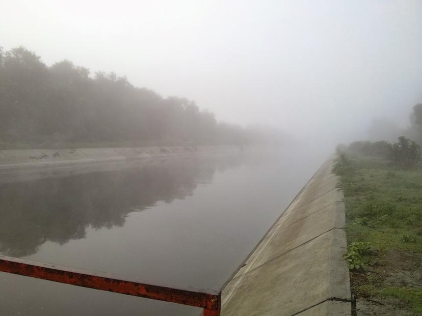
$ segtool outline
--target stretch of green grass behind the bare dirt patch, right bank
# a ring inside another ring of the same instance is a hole
[[[346,166],[337,170],[345,194],[349,243],[422,252],[422,168],[403,170],[375,158],[346,159]],[[411,236],[407,242],[406,235]]]

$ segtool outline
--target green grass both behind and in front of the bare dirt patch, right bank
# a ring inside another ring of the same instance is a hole
[[[348,254],[353,251],[350,247],[356,244],[376,249],[372,255],[357,257],[363,269],[380,265],[392,250],[422,253],[420,165],[403,169],[381,158],[343,153],[337,158],[333,172],[340,176],[345,195]],[[351,271],[351,277],[352,290],[358,296],[399,299],[413,312],[422,313],[421,290],[389,286],[363,273],[362,268],[357,270]]]

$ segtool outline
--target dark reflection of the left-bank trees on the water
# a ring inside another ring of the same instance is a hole
[[[71,169],[9,175],[9,183],[0,184],[0,252],[28,256],[46,241],[65,244],[85,238],[87,227],[122,226],[128,213],[160,200],[171,203],[191,196],[198,184],[213,179],[217,169],[239,163],[237,154],[208,158],[108,165],[107,172]]]

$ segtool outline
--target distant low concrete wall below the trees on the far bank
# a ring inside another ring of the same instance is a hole
[[[147,159],[167,155],[236,150],[235,146],[1,150],[0,169]]]

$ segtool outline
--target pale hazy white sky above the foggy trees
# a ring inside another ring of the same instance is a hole
[[[337,141],[373,117],[408,124],[421,17],[421,0],[1,0],[0,46],[127,75],[219,120]]]

